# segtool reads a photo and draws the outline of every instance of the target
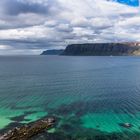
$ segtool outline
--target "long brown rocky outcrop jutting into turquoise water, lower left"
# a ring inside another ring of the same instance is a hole
[[[47,118],[19,128],[16,127],[3,136],[0,136],[0,140],[28,140],[44,130],[51,128],[54,123],[54,118]]]

